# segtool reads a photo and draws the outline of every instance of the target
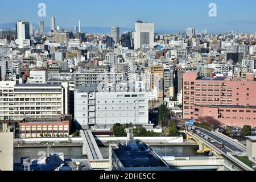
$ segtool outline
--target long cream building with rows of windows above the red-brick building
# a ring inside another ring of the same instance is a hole
[[[68,83],[16,84],[0,82],[0,120],[57,118],[68,114]]]

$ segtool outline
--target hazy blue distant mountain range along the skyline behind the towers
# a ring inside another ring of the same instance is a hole
[[[34,26],[36,28],[39,28],[38,24],[32,23],[34,24]],[[15,23],[3,23],[0,24],[0,28],[15,28]],[[64,30],[71,30],[73,31],[73,27],[72,28],[64,28]],[[49,27],[44,27],[44,31],[50,31],[51,28]],[[81,27],[81,30],[83,32],[88,32],[88,33],[102,33],[102,34],[110,34],[111,32],[111,27]],[[134,28],[127,28],[127,27],[120,27],[120,33],[122,34],[125,31],[134,31]],[[156,33],[175,33],[178,32],[177,30],[155,30]]]

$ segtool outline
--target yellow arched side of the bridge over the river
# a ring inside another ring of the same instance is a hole
[[[217,157],[220,157],[221,155],[219,154],[216,147],[213,147],[212,144],[209,144],[208,142],[205,142],[202,140],[200,137],[197,135],[190,133],[188,131],[185,131],[186,138],[187,139],[193,139],[195,142],[199,145],[199,150],[197,150],[197,153],[199,154],[204,154],[205,152],[213,152],[213,154]]]

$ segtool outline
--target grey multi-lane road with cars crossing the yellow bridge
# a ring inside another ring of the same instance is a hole
[[[188,126],[188,125],[187,125]],[[213,146],[215,145],[216,148],[220,145],[220,144],[224,144],[225,147],[220,148],[220,150],[222,150],[222,152],[245,152],[245,150],[240,147],[237,146],[237,144],[230,142],[229,140],[226,140],[225,138],[220,137],[217,134],[214,134],[208,130],[205,129],[201,129],[199,127],[195,127],[195,129],[197,131],[200,131],[200,133],[195,133],[198,137],[207,140],[209,143],[212,143]],[[208,139],[205,139],[205,137],[208,137]],[[214,140],[215,142],[211,142],[212,140]]]

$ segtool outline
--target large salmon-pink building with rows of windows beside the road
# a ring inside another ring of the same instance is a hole
[[[212,116],[224,125],[256,123],[256,81],[246,78],[200,78],[197,72],[183,75],[183,118]]]

